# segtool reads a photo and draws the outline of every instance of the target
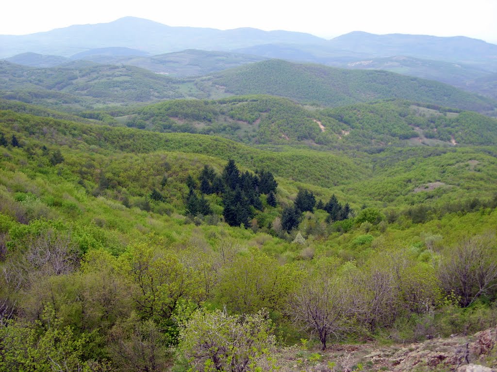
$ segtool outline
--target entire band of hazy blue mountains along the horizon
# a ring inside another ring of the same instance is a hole
[[[282,59],[383,69],[497,98],[497,45],[462,36],[374,35],[354,31],[325,40],[299,32],[171,27],[125,17],[30,35],[0,35],[0,58],[33,67],[53,67],[82,59],[134,65],[177,77]]]

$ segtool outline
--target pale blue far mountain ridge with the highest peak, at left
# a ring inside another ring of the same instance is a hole
[[[299,32],[171,27],[147,19],[125,17],[110,23],[74,25],[30,35],[1,35],[0,58],[26,52],[70,57],[107,47],[132,48],[157,55],[185,49],[227,51],[267,43],[323,42],[324,39]]]

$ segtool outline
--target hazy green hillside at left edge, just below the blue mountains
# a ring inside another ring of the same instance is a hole
[[[72,62],[34,68],[0,62],[2,98],[81,109],[187,96],[177,80],[134,66]]]

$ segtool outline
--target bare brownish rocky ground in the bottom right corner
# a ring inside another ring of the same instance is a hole
[[[276,359],[284,372],[497,372],[497,328],[388,347],[334,345],[323,352],[293,346],[280,351]]]

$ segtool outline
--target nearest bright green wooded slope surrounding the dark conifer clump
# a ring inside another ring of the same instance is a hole
[[[495,146],[258,149],[12,106],[0,110],[2,372],[212,370],[198,353],[212,334],[222,368],[243,355],[264,372],[312,371],[331,343],[495,324]],[[350,111],[350,124],[366,113]],[[489,273],[481,287],[460,284],[464,258],[471,280]],[[320,314],[340,321],[316,338],[306,309],[324,298]],[[217,335],[233,332],[228,350]]]

